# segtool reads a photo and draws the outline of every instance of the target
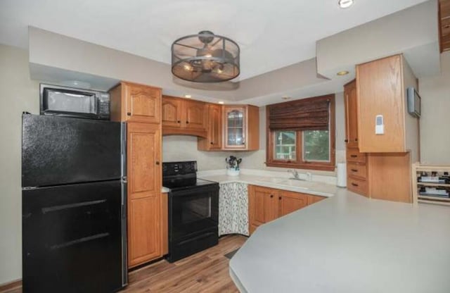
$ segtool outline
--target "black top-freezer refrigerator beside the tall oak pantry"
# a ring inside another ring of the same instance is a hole
[[[124,123],[22,117],[23,292],[127,285]]]

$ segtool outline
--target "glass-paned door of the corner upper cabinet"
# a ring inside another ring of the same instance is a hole
[[[225,107],[225,148],[245,149],[245,107]]]

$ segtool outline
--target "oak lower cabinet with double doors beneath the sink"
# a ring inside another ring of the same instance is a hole
[[[264,223],[326,198],[255,185],[248,186],[248,197],[250,234]]]

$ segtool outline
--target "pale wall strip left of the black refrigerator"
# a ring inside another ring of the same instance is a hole
[[[0,284],[22,278],[23,111],[39,113],[39,83],[30,80],[27,51],[0,44]]]

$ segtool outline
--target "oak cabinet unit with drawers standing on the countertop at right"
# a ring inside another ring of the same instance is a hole
[[[418,83],[403,55],[356,66],[345,85],[347,188],[373,199],[412,201],[411,162],[419,160],[418,119],[406,89]],[[383,133],[375,120],[383,116]]]

